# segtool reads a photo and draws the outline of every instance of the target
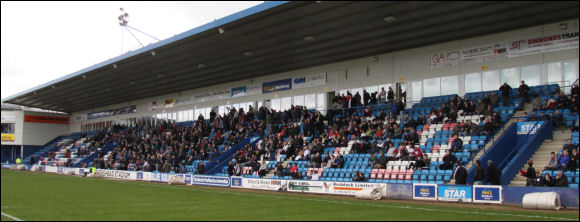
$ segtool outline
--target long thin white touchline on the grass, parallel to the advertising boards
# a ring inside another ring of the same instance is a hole
[[[197,188],[193,188],[193,187],[192,188],[181,188],[181,187],[172,187],[172,186],[161,185],[161,184],[134,183],[134,182],[126,182],[126,181],[118,181],[118,180],[107,180],[107,181],[126,183],[126,184],[137,184],[140,186],[165,187],[165,188],[176,189],[176,190],[194,190],[194,191],[203,191],[203,192],[210,192],[210,193],[236,194],[236,195],[241,195],[241,196],[255,196],[255,197],[279,198],[279,199],[291,199],[291,200],[308,200],[308,201],[319,201],[319,202],[350,204],[350,205],[359,205],[359,206],[371,206],[371,207],[388,207],[388,208],[412,209],[412,210],[424,210],[424,211],[440,211],[440,212],[450,212],[450,213],[482,214],[482,215],[497,215],[497,216],[511,216],[511,217],[528,217],[528,218],[541,218],[541,219],[550,219],[550,220],[571,220],[571,221],[578,220],[578,219],[571,219],[571,218],[545,217],[545,216],[521,215],[521,214],[503,214],[503,213],[478,212],[478,211],[444,210],[444,209],[433,209],[433,208],[412,207],[412,206],[390,206],[390,205],[383,205],[383,204],[352,203],[352,202],[335,201],[335,200],[328,200],[328,199],[294,198],[294,197],[288,197],[288,196],[275,196],[275,195],[263,195],[263,194],[254,194],[254,193],[239,193],[239,192],[231,192],[231,191],[205,190],[205,189],[197,189]]]

